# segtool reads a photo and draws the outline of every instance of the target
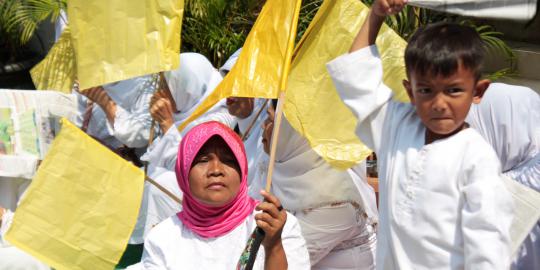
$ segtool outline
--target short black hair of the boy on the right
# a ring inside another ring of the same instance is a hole
[[[407,75],[450,76],[459,63],[480,79],[484,43],[475,29],[455,23],[440,22],[420,28],[405,49]]]

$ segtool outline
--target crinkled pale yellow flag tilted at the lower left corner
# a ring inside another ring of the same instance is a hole
[[[55,269],[114,269],[137,221],[144,173],[61,123],[6,239]]]

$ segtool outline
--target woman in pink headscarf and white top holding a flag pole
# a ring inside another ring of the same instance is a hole
[[[309,255],[294,216],[279,200],[247,195],[247,160],[240,138],[218,122],[183,138],[176,176],[182,212],[153,228],[144,243],[144,269],[235,269],[256,226],[265,232],[253,269],[309,269]]]

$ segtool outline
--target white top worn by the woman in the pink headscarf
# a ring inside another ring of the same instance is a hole
[[[177,216],[157,225],[144,243],[141,269],[236,269],[251,233],[257,226],[253,212],[244,223],[218,238],[201,238],[184,227]],[[310,269],[306,244],[296,218],[287,215],[281,234],[289,269]],[[264,269],[261,246],[253,269]]]

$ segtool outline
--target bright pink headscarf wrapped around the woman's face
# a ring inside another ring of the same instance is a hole
[[[241,171],[240,190],[228,204],[213,207],[195,199],[189,188],[189,171],[195,156],[213,136],[221,137],[232,150]],[[178,218],[193,232],[204,238],[219,237],[234,230],[249,216],[257,201],[247,195],[247,159],[242,140],[219,122],[206,122],[192,128],[182,139],[176,161],[176,179],[184,193],[182,211]]]

